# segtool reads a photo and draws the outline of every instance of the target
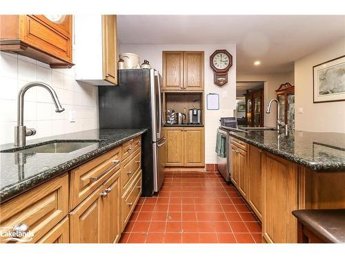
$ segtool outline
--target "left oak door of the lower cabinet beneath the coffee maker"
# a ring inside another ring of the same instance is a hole
[[[184,165],[184,129],[166,129],[166,166]]]

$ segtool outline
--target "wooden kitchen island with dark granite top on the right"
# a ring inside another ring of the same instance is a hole
[[[262,220],[263,241],[297,243],[297,209],[345,208],[345,135],[229,132],[231,180]]]

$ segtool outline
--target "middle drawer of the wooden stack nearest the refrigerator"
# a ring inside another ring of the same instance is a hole
[[[136,151],[128,158],[128,162],[122,165],[121,169],[121,186],[122,190],[126,189],[130,184],[130,179],[136,175],[141,168],[141,151]]]

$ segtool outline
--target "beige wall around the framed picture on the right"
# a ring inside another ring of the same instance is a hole
[[[297,130],[345,133],[345,101],[313,103],[313,66],[344,54],[345,38],[295,61]],[[298,108],[302,108],[303,113],[299,113]]]

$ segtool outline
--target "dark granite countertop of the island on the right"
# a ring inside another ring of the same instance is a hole
[[[345,171],[345,133],[308,131],[229,131],[259,149],[315,171]]]

